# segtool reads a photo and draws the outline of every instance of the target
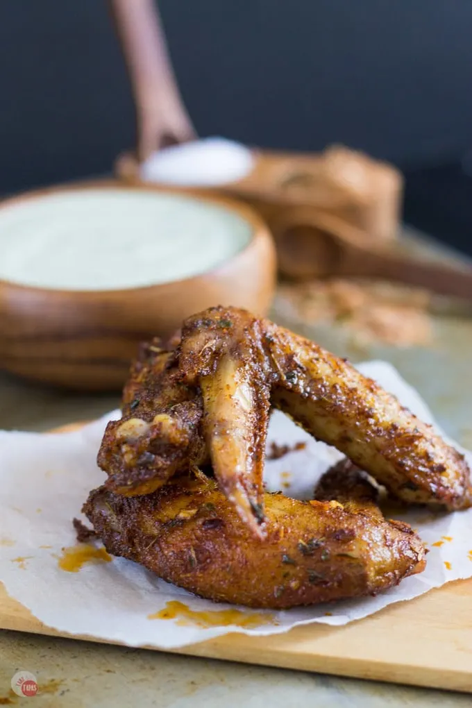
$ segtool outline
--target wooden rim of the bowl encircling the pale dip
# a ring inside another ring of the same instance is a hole
[[[67,288],[57,288],[57,287],[40,287],[37,285],[27,285],[26,283],[15,282],[14,280],[7,280],[6,278],[0,278],[0,288],[8,287],[15,288],[19,291],[36,292],[38,295],[44,295],[49,297],[77,297],[79,299],[96,299],[97,297],[108,297],[116,296],[120,294],[132,293],[142,293],[143,295],[150,290],[155,290],[156,288],[165,287],[179,287],[180,285],[192,285],[192,282],[198,282],[202,278],[214,277],[221,275],[221,272],[225,270],[229,263],[234,263],[238,261],[239,258],[246,256],[246,253],[250,249],[254,249],[255,245],[261,239],[267,239],[267,237],[272,241],[272,235],[270,229],[258,213],[253,210],[250,206],[243,202],[239,202],[236,199],[231,199],[226,195],[219,195],[215,193],[209,193],[208,189],[201,190],[197,188],[180,188],[178,186],[167,186],[167,185],[157,185],[153,183],[127,183],[122,179],[117,178],[101,178],[101,179],[86,179],[80,181],[71,181],[66,183],[59,183],[55,185],[48,185],[47,187],[41,187],[38,189],[27,190],[19,194],[11,195],[0,200],[0,212],[6,207],[16,206],[23,202],[28,202],[30,200],[40,200],[43,197],[55,193],[69,192],[69,191],[95,191],[95,190],[109,190],[118,189],[123,191],[134,191],[134,192],[158,192],[158,193],[170,193],[182,198],[188,198],[190,200],[197,200],[207,202],[210,205],[223,207],[226,210],[234,212],[236,215],[241,217],[244,221],[248,222],[251,227],[251,235],[246,246],[237,251],[233,256],[229,256],[225,261],[219,263],[215,268],[205,270],[202,273],[196,273],[191,275],[190,278],[180,278],[178,280],[167,280],[166,282],[151,283],[150,285],[139,285],[137,287],[119,287],[119,288],[106,288],[102,290],[68,290]]]

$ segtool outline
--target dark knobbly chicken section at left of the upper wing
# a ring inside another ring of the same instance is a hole
[[[159,340],[144,345],[125,386],[122,418],[108,423],[98,452],[108,489],[148,494],[189,464],[204,464],[201,419],[201,396],[183,384],[173,350]]]

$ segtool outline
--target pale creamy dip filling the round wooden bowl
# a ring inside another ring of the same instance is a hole
[[[190,278],[244,249],[251,224],[186,196],[71,190],[0,209],[0,280],[118,290]]]

